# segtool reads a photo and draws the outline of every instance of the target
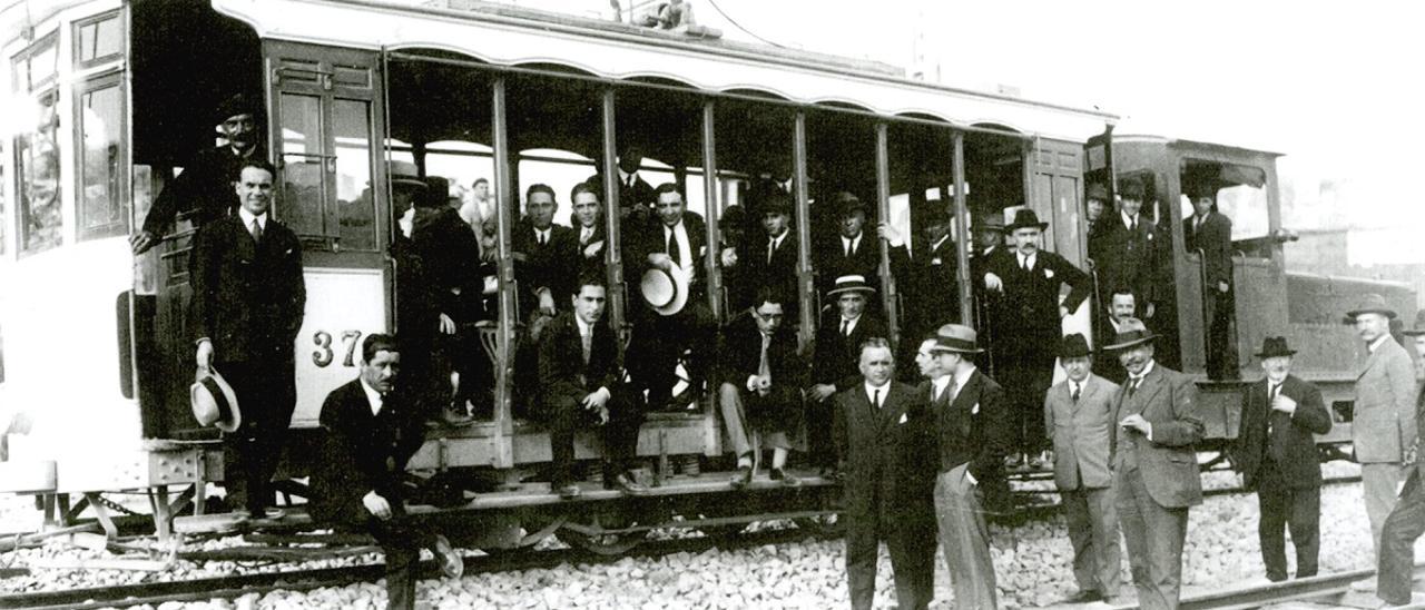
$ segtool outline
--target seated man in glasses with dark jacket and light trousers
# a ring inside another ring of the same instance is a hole
[[[788,486],[799,483],[785,466],[792,446],[788,435],[801,422],[807,366],[797,353],[797,334],[782,325],[784,295],[770,285],[758,288],[757,304],[722,329],[718,371],[724,381],[718,388],[718,409],[737,452],[734,487],[752,482],[752,452],[764,448],[772,449],[771,479]]]

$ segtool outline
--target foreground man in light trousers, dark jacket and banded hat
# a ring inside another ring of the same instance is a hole
[[[995,609],[995,564],[989,554],[989,526],[980,509],[979,486],[995,476],[1009,438],[1005,391],[980,372],[970,356],[982,353],[975,329],[940,326],[931,355],[931,379],[916,389],[931,400],[940,456],[935,479],[935,517],[940,547],[950,572],[956,609]]]

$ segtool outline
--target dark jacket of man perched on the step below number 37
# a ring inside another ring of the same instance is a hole
[[[392,392],[380,413],[372,415],[361,379],[353,379],[326,395],[321,422],[322,459],[312,470],[312,519],[363,523],[370,513],[362,497],[373,490],[399,510],[406,462],[425,442],[415,403]]]

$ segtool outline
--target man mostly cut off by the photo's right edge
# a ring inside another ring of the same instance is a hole
[[[1425,429],[1425,309],[1416,312],[1415,328],[1404,332],[1415,339],[1415,429]],[[1378,562],[1378,583],[1375,594],[1392,606],[1414,601],[1411,573],[1415,570],[1415,540],[1425,533],[1425,452],[1415,445],[1415,460],[1405,489],[1395,509],[1381,529],[1381,559]]]

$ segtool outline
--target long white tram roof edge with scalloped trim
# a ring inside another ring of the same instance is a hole
[[[892,66],[476,0],[212,0],[258,36],[356,48],[443,50],[493,66],[561,64],[610,80],[665,78],[953,125],[1083,141],[1117,115],[905,78]],[[332,27],[332,24],[341,27]]]

